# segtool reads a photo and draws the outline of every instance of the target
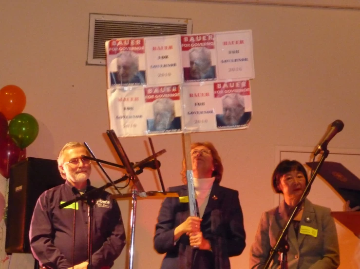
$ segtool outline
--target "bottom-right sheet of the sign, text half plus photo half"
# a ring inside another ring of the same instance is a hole
[[[184,132],[246,129],[252,117],[250,82],[183,85]]]

